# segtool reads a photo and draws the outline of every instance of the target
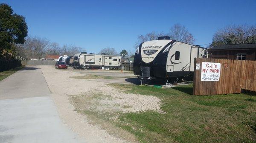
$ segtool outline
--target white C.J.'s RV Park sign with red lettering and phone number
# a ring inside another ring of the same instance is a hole
[[[202,62],[201,81],[219,81],[221,63]]]

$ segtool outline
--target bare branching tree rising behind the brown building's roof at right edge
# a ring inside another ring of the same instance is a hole
[[[214,34],[210,47],[225,44],[256,43],[255,29],[255,25],[228,25]]]

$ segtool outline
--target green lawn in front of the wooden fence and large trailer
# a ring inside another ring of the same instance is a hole
[[[166,114],[128,113],[116,122],[142,143],[256,142],[256,93],[194,96],[192,84],[165,89],[111,85],[125,93],[154,95],[163,102]]]

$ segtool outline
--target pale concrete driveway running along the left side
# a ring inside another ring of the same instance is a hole
[[[39,67],[0,81],[0,143],[84,143],[61,122]]]

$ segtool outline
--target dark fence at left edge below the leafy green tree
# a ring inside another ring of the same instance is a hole
[[[6,60],[6,59],[0,59],[0,72],[9,70],[15,67],[20,67],[21,62],[18,59],[12,59],[12,60]]]

